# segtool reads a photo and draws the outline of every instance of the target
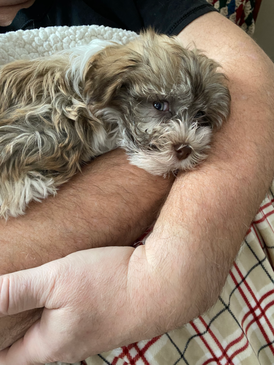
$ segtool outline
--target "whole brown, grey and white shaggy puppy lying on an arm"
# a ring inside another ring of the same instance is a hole
[[[230,112],[219,65],[152,30],[0,68],[0,216],[23,214],[118,146],[151,174],[192,169]]]

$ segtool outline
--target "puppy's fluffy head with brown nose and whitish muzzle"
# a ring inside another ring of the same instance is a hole
[[[149,30],[93,56],[85,91],[93,114],[119,123],[131,162],[165,175],[202,161],[213,130],[229,116],[230,93],[218,67]]]

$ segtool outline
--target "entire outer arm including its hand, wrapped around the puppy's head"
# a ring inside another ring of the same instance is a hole
[[[1,276],[3,316],[47,308],[41,322],[0,353],[1,365],[79,361],[178,328],[215,303],[274,176],[274,66],[215,12],[194,20],[179,39],[184,45],[195,41],[222,63],[230,80],[231,117],[215,135],[209,158],[176,178],[144,246],[94,248]],[[57,325],[65,334],[68,325],[70,338],[57,341]]]

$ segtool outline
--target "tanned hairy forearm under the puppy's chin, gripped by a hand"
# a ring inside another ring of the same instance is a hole
[[[172,178],[151,176],[122,150],[97,158],[56,197],[25,216],[0,220],[0,274],[39,266],[71,252],[130,245],[153,223]],[[41,310],[0,319],[0,349],[22,336]]]

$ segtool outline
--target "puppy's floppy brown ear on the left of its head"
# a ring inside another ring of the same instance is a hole
[[[141,54],[121,44],[109,45],[89,60],[84,73],[84,95],[90,107],[103,108],[122,86],[136,81]]]

